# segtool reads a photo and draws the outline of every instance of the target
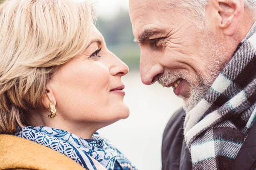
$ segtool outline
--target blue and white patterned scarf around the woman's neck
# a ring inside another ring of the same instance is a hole
[[[131,162],[107,139],[94,133],[92,139],[81,139],[65,130],[52,127],[23,127],[15,134],[42,144],[76,161],[87,170],[96,170],[90,157],[107,170],[136,170]]]

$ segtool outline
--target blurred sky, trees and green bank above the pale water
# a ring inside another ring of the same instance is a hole
[[[122,59],[130,71],[139,71],[140,47],[134,42],[128,13],[128,0],[97,0],[99,20],[96,26],[110,51]]]

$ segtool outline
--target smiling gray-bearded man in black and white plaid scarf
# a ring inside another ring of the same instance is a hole
[[[183,98],[163,170],[256,167],[256,0],[130,0],[142,82]]]

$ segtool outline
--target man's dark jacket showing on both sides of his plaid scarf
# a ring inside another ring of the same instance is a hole
[[[173,114],[163,132],[162,170],[191,170],[189,150],[183,136],[185,111]],[[256,123],[250,129],[233,163],[233,170],[256,170]]]

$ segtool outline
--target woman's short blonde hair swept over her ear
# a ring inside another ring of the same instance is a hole
[[[44,109],[55,71],[90,40],[88,1],[8,0],[0,5],[0,134],[23,127],[26,113]]]

